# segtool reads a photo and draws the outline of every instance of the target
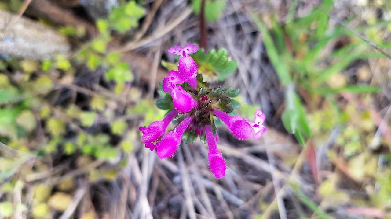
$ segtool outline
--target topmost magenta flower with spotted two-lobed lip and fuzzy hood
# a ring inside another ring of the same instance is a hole
[[[169,49],[170,54],[180,56],[178,70],[192,88],[197,87],[197,64],[195,64],[194,59],[189,55],[195,53],[197,50],[198,46],[193,44],[187,44],[185,48],[174,46]]]

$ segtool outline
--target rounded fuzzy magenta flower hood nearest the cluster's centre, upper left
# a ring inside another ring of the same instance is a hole
[[[174,89],[171,89],[170,94],[172,105],[179,113],[188,113],[197,106],[197,101],[188,92],[183,90],[181,85],[177,85]]]

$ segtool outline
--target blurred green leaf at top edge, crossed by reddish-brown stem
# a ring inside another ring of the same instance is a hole
[[[201,0],[193,0],[192,7],[195,14],[201,12]],[[221,18],[222,12],[225,9],[225,0],[206,0],[204,14],[206,22],[214,22]]]

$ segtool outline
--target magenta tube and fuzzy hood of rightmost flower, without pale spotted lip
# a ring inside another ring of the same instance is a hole
[[[232,132],[232,135],[235,138],[239,140],[245,140],[251,137],[251,132],[253,132],[253,128],[249,124],[249,121],[245,118],[241,116],[230,117],[230,115],[218,109],[215,109],[213,113],[217,118],[219,118],[227,125],[228,130]]]

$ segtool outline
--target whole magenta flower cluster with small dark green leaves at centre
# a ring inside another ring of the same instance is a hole
[[[148,127],[140,127],[145,147],[154,150],[160,159],[170,158],[176,153],[181,140],[194,142],[199,136],[203,143],[208,143],[208,161],[210,171],[217,178],[224,177],[226,163],[217,148],[217,127],[215,118],[219,118],[233,136],[239,140],[258,139],[266,131],[263,124],[265,115],[260,109],[255,111],[255,122],[228,113],[233,111],[233,100],[239,91],[232,88],[209,88],[201,74],[197,75],[197,64],[190,54],[195,53],[198,46],[187,44],[184,48],[174,46],[168,52],[179,55],[178,71],[170,71],[163,79],[161,89],[165,102],[169,102],[169,113],[163,120],[152,122]],[[165,133],[170,122],[178,125]]]

